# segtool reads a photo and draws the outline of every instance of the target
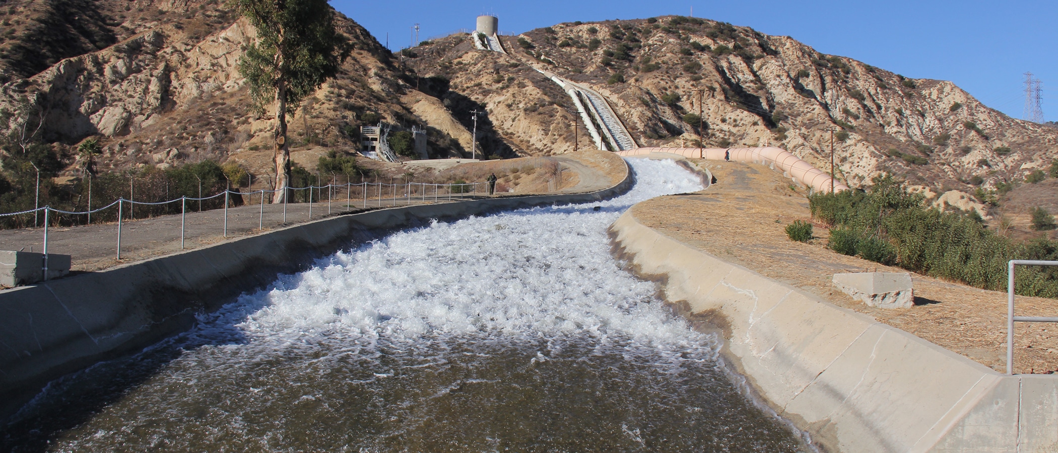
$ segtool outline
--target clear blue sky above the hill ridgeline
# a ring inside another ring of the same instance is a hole
[[[482,13],[504,32],[560,22],[689,15],[787,35],[914,78],[951,80],[986,106],[1016,118],[1024,107],[1024,73],[1043,81],[1043,114],[1058,120],[1058,1],[557,1],[363,2],[332,0],[389,48],[473,29]]]

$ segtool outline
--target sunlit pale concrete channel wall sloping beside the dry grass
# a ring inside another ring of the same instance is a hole
[[[828,452],[1056,452],[1058,377],[1006,376],[640,224],[610,226],[637,272],[724,333],[725,356]]]

